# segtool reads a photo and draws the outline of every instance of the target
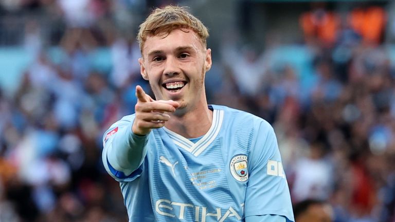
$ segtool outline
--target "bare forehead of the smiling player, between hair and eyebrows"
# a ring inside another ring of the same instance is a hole
[[[203,49],[203,43],[199,36],[191,29],[174,29],[169,34],[147,36],[142,48],[142,54],[147,55],[151,51],[168,51],[180,47],[191,47],[195,50]]]

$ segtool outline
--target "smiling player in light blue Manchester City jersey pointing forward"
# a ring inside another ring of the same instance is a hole
[[[140,25],[140,71],[155,99],[137,86],[136,113],[103,136],[103,164],[120,183],[129,221],[294,221],[271,125],[207,104],[207,37],[175,6]]]

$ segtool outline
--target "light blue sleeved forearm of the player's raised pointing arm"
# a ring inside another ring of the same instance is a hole
[[[147,154],[148,135],[135,135],[130,124],[121,128],[111,139],[107,147],[107,160],[115,170],[125,175],[131,174]]]

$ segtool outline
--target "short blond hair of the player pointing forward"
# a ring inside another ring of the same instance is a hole
[[[140,51],[147,40],[147,36],[163,35],[165,38],[174,29],[193,30],[207,47],[208,30],[203,23],[185,10],[186,7],[166,6],[156,8],[144,21],[138,30],[137,41]]]

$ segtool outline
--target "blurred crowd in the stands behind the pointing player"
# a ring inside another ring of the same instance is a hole
[[[209,103],[276,131],[294,204],[395,221],[395,2],[0,0],[0,221],[127,221],[101,163],[134,113],[138,25],[189,6],[209,28]]]

